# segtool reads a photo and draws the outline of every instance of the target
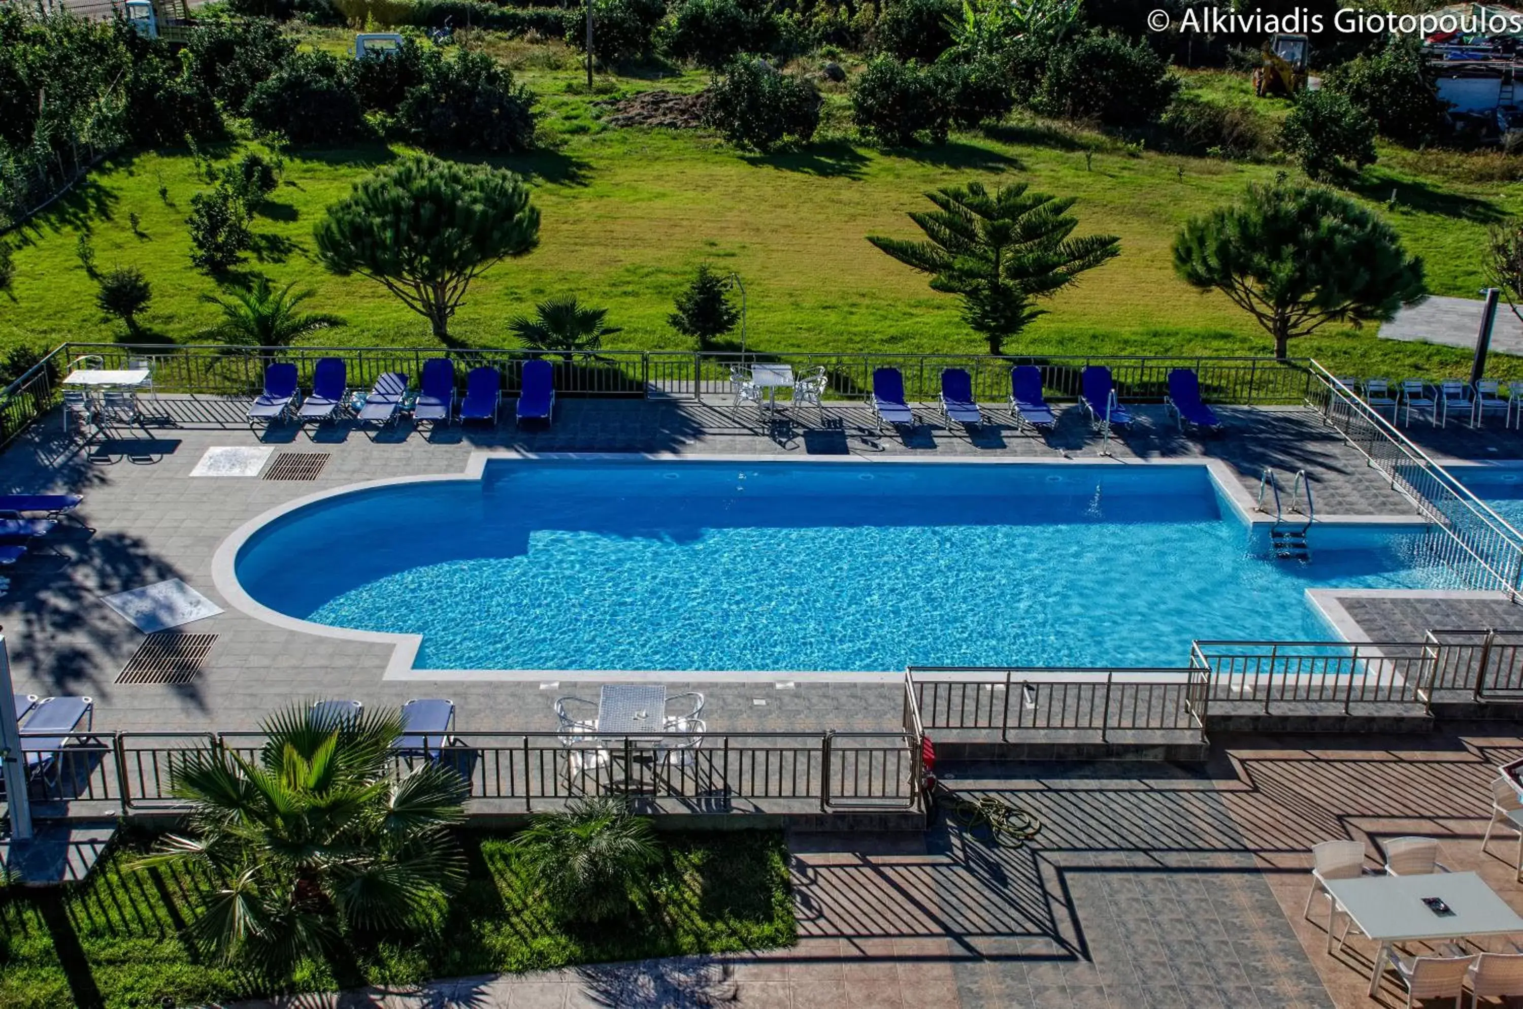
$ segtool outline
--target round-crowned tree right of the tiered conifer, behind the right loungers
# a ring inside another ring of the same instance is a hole
[[[1174,271],[1250,314],[1276,358],[1328,323],[1386,321],[1424,297],[1422,260],[1395,228],[1319,187],[1253,184],[1240,202],[1189,219],[1174,237]]]

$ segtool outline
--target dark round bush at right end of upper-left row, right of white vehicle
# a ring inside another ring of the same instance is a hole
[[[410,88],[398,125],[419,145],[439,151],[527,151],[535,138],[535,94],[486,53],[455,49],[425,64],[423,84]]]

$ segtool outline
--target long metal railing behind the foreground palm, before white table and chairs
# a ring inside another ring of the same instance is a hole
[[[56,734],[53,734],[56,735]],[[59,737],[49,767],[30,776],[38,816],[70,804],[123,814],[184,808],[177,772],[195,753],[225,747],[257,759],[259,732],[96,732]],[[908,732],[688,734],[567,740],[554,732],[451,732],[431,756],[469,785],[469,813],[533,813],[586,794],[624,794],[664,811],[768,811],[801,801],[822,813],[920,811],[920,738]],[[396,755],[407,770],[425,756]],[[777,805],[777,804],[774,804]],[[49,808],[52,807],[52,810]]]

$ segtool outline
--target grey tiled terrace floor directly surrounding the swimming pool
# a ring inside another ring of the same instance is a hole
[[[195,633],[216,635],[203,673],[192,683],[117,685],[114,679],[142,635],[99,597],[178,577],[225,607],[212,586],[212,555],[248,519],[285,501],[362,479],[458,473],[477,450],[1052,460],[1094,460],[1103,450],[1072,408],[1062,412],[1057,431],[1046,438],[1020,434],[1008,423],[988,425],[973,437],[926,423],[906,441],[879,434],[867,409],[854,403],[830,405],[822,415],[809,411],[800,423],[784,417],[763,425],[755,412],[737,419],[728,408],[711,403],[565,400],[557,405],[554,426],[542,432],[518,431],[510,420],[495,431],[452,426],[420,432],[404,423],[373,437],[349,423],[303,432],[277,428],[263,435],[265,444],[327,454],[315,481],[190,476],[209,447],[260,443],[242,422],[244,408],[242,400],[230,399],[148,400],[151,415],[143,426],[113,429],[88,446],[81,446],[76,435],[64,437],[61,417],[50,414],[0,455],[0,490],[82,493],[85,505],[79,514],[90,527],[65,524],[56,554],[29,557],[6,572],[12,586],[0,600],[0,624],[18,689],[41,695],[90,694],[96,699],[101,729],[236,730],[253,727],[265,712],[292,697],[353,697],[394,705],[436,691],[460,705],[460,729],[504,724],[553,729],[550,699],[536,683],[452,682],[434,688],[382,682],[388,645],[289,632],[231,609],[187,625]],[[1316,414],[1228,408],[1221,412],[1229,434],[1196,440],[1180,437],[1162,408],[1138,412],[1135,429],[1110,444],[1122,464],[1218,458],[1238,473],[1249,493],[1256,493],[1264,467],[1275,467],[1287,484],[1290,473],[1305,469],[1316,487],[1319,514],[1413,514],[1409,502]],[[920,415],[931,420],[935,411],[928,406]],[[1515,432],[1506,437],[1523,444]],[[1502,609],[1506,616],[1514,607]],[[1422,619],[1432,619],[1430,625],[1464,627],[1471,618],[1456,612]],[[1488,622],[1502,625],[1496,619]],[[1185,662],[1182,654],[1180,665]],[[899,695],[892,688],[800,683],[795,691],[784,691],[766,682],[710,685],[705,692],[710,724],[737,732],[871,730],[899,724]]]

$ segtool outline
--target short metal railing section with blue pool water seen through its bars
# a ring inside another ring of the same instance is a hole
[[[1189,665],[1209,683],[1208,702],[1275,705],[1406,705],[1429,711],[1436,650],[1426,642],[1196,641]]]

